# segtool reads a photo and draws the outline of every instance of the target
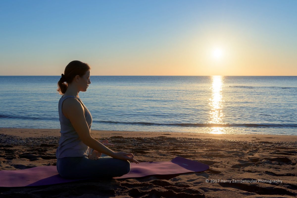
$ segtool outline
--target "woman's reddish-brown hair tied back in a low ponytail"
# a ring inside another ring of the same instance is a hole
[[[83,63],[79,60],[71,61],[66,67],[64,74],[58,82],[58,89],[60,95],[64,95],[67,90],[68,84],[72,82],[76,75],[82,77],[86,72],[91,69],[87,63]],[[66,84],[64,84],[66,82]]]

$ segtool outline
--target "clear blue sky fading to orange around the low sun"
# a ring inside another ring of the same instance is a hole
[[[0,0],[0,76],[296,76],[297,1]]]

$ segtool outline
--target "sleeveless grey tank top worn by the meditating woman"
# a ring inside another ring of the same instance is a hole
[[[85,145],[78,136],[78,133],[75,131],[70,120],[66,118],[62,112],[62,104],[67,98],[77,98],[75,96],[63,96],[59,100],[59,120],[61,124],[61,137],[59,140],[59,146],[56,150],[56,158],[63,157],[88,157],[89,146]],[[83,102],[77,98],[85,109],[85,118],[86,122],[91,129],[92,125],[92,116],[90,111],[86,108]]]

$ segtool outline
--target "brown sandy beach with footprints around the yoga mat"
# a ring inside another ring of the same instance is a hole
[[[0,187],[0,197],[296,197],[297,136],[91,131],[139,162],[176,156],[210,166],[201,173]],[[0,170],[56,165],[58,129],[0,128]],[[1,178],[0,178],[1,179]],[[255,182],[256,181],[256,182]]]

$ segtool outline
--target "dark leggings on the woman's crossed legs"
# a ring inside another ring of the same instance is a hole
[[[64,178],[112,178],[130,172],[128,160],[104,155],[97,160],[87,157],[63,157],[57,159],[57,171]]]

